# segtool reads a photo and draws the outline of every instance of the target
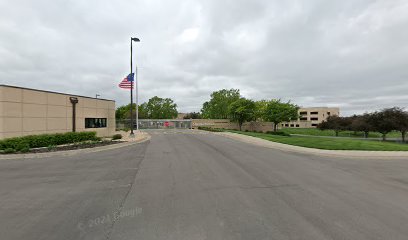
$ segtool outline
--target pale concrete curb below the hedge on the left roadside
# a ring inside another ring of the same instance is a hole
[[[117,148],[127,147],[127,146],[131,146],[131,145],[138,144],[138,143],[143,143],[143,142],[149,141],[150,138],[151,136],[146,134],[146,136],[134,142],[117,143],[113,145],[100,146],[100,147],[94,147],[94,148],[84,148],[84,149],[75,149],[75,150],[66,150],[66,151],[57,151],[57,152],[45,152],[45,153],[0,155],[0,160],[64,157],[64,156],[73,156],[73,155],[80,154],[80,153],[101,152],[101,151],[106,151],[106,150],[113,150]]]

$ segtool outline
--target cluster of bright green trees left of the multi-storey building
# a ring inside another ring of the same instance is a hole
[[[281,122],[298,118],[299,107],[280,99],[254,101],[241,97],[238,89],[222,89],[211,94],[210,101],[203,104],[201,117],[207,119],[230,119],[239,129],[249,121],[272,122],[274,131]]]

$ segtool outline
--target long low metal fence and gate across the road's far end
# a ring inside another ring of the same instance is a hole
[[[130,119],[116,120],[117,129],[130,128]],[[133,120],[133,128],[136,129],[136,120]],[[191,119],[139,119],[139,129],[190,129]]]

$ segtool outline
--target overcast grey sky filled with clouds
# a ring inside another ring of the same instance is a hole
[[[200,110],[212,91],[338,106],[408,107],[406,0],[0,0],[0,83]]]

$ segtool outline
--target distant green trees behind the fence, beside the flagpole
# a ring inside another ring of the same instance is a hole
[[[132,106],[133,117],[136,116],[136,104]],[[140,119],[172,119],[177,117],[177,104],[170,98],[152,97],[148,102],[138,107]],[[118,120],[130,119],[130,104],[116,109],[115,117]]]

